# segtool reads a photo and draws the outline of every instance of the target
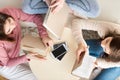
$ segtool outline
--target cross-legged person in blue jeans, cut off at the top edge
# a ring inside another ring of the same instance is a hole
[[[79,17],[95,18],[99,15],[100,9],[97,0],[24,0],[22,10],[28,14],[45,14],[48,7],[52,12],[59,12],[66,2],[73,14]]]

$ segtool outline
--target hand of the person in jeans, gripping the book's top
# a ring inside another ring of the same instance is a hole
[[[50,4],[52,13],[58,12],[64,5],[65,0],[53,0]]]

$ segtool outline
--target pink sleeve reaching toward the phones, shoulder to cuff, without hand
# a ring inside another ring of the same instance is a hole
[[[42,25],[43,19],[41,15],[26,14],[21,9],[16,8],[8,8],[6,10],[17,20],[35,23],[37,25],[38,32],[41,38],[44,36],[48,36],[46,29]]]

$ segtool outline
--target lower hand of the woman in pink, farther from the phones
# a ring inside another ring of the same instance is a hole
[[[46,60],[46,58],[38,53],[29,52],[26,54],[28,59]]]

